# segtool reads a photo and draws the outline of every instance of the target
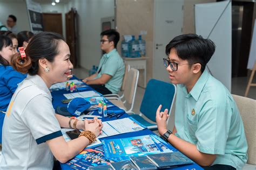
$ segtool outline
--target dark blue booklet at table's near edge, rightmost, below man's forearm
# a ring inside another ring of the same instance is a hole
[[[193,161],[180,152],[146,155],[158,168],[170,168],[178,165],[193,164]]]

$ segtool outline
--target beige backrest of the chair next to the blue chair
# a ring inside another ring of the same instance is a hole
[[[131,68],[127,74],[127,79],[125,81],[124,98],[127,103],[132,104],[132,107],[136,95],[138,79],[139,70]]]

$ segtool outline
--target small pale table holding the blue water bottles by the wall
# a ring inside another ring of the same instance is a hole
[[[127,57],[122,57],[122,58],[124,59],[124,63],[127,65],[130,65],[130,67],[143,70],[144,81],[143,81],[143,84],[139,82],[138,86],[146,88],[147,59],[149,58],[145,56],[138,57],[138,58],[127,58]]]

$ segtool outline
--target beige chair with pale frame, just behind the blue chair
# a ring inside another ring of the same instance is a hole
[[[125,80],[124,97],[123,97],[124,101],[122,101],[120,97],[112,97],[111,100],[109,101],[112,102],[114,105],[117,105],[117,107],[123,108],[126,112],[131,112],[134,105],[138,79],[139,79],[139,70],[135,68],[131,68]],[[129,110],[127,110],[124,105],[126,102],[128,104],[131,104],[131,108]]]

